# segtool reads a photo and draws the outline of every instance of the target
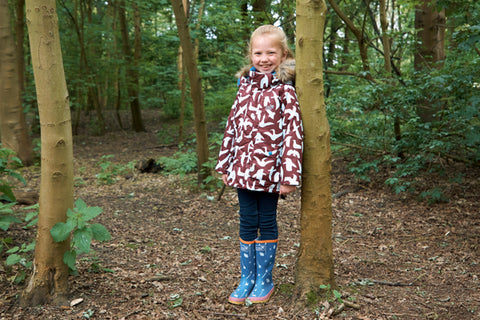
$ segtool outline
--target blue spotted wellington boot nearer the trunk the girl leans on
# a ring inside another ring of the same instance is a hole
[[[255,287],[248,296],[252,303],[264,303],[272,296],[274,285],[272,270],[277,253],[277,240],[255,240],[255,255],[257,259],[257,279]]]

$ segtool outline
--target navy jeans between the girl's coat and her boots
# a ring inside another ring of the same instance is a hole
[[[277,240],[278,194],[237,189],[240,204],[240,238],[244,241]],[[260,237],[258,237],[260,232]]]

